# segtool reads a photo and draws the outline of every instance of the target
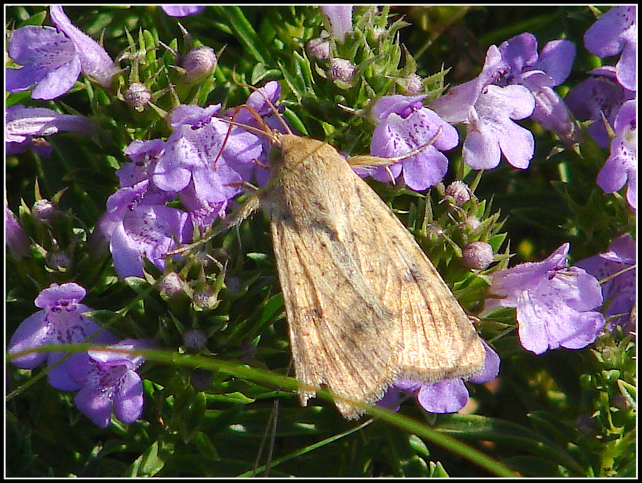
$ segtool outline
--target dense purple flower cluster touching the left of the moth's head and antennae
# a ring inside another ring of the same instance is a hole
[[[262,90],[271,102],[280,95],[274,81]],[[246,104],[260,115],[272,114],[256,94]],[[219,110],[220,105],[178,105],[167,140],[133,141],[126,148],[132,162],[116,172],[121,188],[108,199],[98,224],[121,278],[143,276],[143,255],[163,270],[163,256],[190,241],[195,227],[205,229],[225,216],[230,199],[252,180],[256,160],[266,157],[263,140],[230,128],[217,117]],[[187,211],[166,205],[175,197]]]

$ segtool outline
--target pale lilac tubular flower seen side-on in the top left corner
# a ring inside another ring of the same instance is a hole
[[[80,60],[83,73],[96,79],[104,88],[111,87],[111,79],[118,72],[118,68],[105,49],[73,25],[62,6],[50,6],[49,14],[58,30],[63,32],[76,47],[76,55]]]

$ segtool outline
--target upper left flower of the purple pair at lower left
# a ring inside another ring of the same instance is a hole
[[[78,284],[51,284],[36,297],[36,307],[41,311],[22,321],[9,341],[9,354],[44,346],[46,344],[77,344],[83,343],[89,336],[101,329],[101,326],[82,315],[91,311],[88,306],[80,303],[85,298],[86,291]],[[108,331],[102,331],[91,339],[93,343],[114,343],[118,339]],[[47,361],[52,365],[62,358],[62,352],[32,352],[19,355],[11,363],[21,369],[33,369]],[[69,378],[68,368],[71,358],[57,365],[47,374],[49,384],[60,390],[76,390],[78,384]]]

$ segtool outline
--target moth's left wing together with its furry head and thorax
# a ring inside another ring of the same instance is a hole
[[[397,377],[401,346],[394,313],[361,273],[357,227],[344,216],[359,203],[354,173],[330,145],[294,135],[279,140],[275,181],[263,203],[295,375],[347,400],[374,402]],[[301,402],[313,395],[300,392]],[[342,399],[335,403],[345,417],[360,414]]]

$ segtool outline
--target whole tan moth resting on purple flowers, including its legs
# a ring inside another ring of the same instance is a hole
[[[235,223],[258,207],[270,219],[301,404],[326,385],[352,420],[397,378],[434,383],[479,374],[485,350],[464,309],[351,167],[394,160],[346,160],[282,124],[285,134],[258,130],[272,144],[270,182]]]

